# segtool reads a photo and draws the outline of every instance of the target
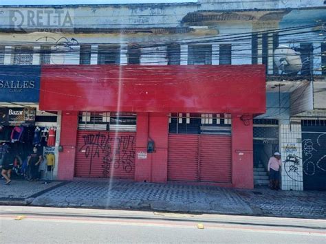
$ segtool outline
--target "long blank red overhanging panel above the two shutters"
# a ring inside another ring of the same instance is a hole
[[[263,65],[44,65],[40,109],[265,113]]]

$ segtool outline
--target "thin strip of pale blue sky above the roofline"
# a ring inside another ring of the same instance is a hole
[[[0,0],[0,5],[69,5],[122,3],[189,3],[197,0]]]

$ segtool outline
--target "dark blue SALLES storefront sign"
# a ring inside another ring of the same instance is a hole
[[[39,102],[41,67],[0,65],[0,102]]]

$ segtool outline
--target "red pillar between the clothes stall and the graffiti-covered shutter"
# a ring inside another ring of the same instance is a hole
[[[60,152],[58,157],[58,179],[71,180],[74,178],[77,127],[78,113],[63,111],[60,135],[60,145],[63,146],[63,152]]]

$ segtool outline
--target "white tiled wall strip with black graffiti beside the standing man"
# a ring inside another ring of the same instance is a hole
[[[282,190],[303,190],[301,124],[280,125]]]

